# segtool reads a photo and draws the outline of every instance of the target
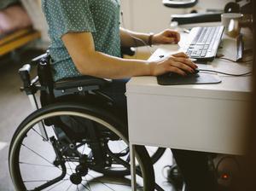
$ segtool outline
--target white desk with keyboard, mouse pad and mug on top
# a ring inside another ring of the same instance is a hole
[[[224,38],[223,48],[225,57],[235,59],[235,40]],[[159,55],[169,55],[178,49],[177,45],[162,46],[150,59],[159,59]],[[218,59],[199,68],[231,73],[251,71],[249,64]],[[134,145],[243,153],[250,77],[218,76],[221,84],[174,86],[161,86],[154,77],[131,78],[126,84],[131,172],[134,172]]]

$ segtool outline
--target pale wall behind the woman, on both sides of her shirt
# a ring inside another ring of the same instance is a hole
[[[41,11],[40,0],[21,0],[32,15],[35,28],[43,35],[43,42],[49,42],[47,25]],[[199,0],[195,7],[204,9],[222,9],[230,0]],[[171,14],[188,13],[190,9],[170,9],[162,4],[162,0],[121,0],[123,10],[123,26],[137,32],[160,32],[170,25]]]

